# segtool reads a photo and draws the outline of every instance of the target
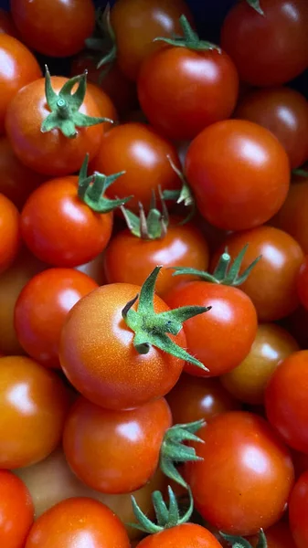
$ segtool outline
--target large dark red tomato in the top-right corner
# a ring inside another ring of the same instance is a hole
[[[264,16],[248,2],[234,5],[221,30],[221,45],[240,79],[253,86],[288,82],[308,67],[306,0],[261,0]]]

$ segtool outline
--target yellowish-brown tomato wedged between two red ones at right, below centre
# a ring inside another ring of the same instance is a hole
[[[265,387],[284,358],[299,350],[292,335],[274,323],[261,323],[250,353],[238,367],[221,377],[228,392],[240,401],[263,404]]]

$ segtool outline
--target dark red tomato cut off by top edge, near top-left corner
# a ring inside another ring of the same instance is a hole
[[[91,0],[11,0],[10,9],[25,44],[52,57],[69,57],[93,32]]]

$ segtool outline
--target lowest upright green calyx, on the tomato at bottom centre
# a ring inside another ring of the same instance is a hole
[[[152,494],[152,501],[157,523],[152,522],[146,517],[132,495],[133,513],[138,523],[128,523],[128,525],[134,527],[134,529],[139,529],[139,531],[154,534],[155,532],[162,532],[165,531],[165,529],[171,529],[172,527],[176,527],[176,525],[182,525],[183,523],[188,522],[194,510],[193,497],[191,491],[188,490],[188,492],[189,507],[184,515],[181,516],[175,493],[170,486],[168,486],[168,506],[164,501],[162,493],[160,491],[154,491]]]

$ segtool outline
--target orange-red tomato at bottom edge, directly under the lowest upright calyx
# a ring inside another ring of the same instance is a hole
[[[221,548],[215,536],[196,523],[183,523],[143,539],[137,548]]]

